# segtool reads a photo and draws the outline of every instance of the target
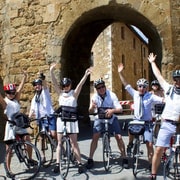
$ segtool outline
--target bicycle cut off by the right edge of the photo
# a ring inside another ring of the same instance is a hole
[[[163,177],[167,179],[180,179],[180,134],[171,137],[170,147],[163,156]]]

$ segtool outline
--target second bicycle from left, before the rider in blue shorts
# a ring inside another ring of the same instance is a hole
[[[35,137],[35,146],[43,155],[43,157],[41,157],[41,162],[44,167],[49,167],[52,164],[53,154],[56,150],[56,140],[52,138],[48,128],[48,125],[51,123],[50,118],[51,115],[33,119],[41,123],[41,128],[39,128],[39,131]]]

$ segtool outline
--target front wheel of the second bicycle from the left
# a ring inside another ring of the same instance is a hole
[[[48,167],[53,161],[53,145],[49,134],[39,132],[35,139],[35,146],[41,154],[42,165]]]

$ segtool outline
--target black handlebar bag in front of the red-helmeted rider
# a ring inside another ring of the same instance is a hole
[[[26,114],[17,112],[12,115],[12,121],[15,122],[15,125],[20,128],[29,127],[29,117]]]

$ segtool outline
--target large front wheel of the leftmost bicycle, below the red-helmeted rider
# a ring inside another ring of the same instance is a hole
[[[27,149],[32,149],[32,158],[29,157]],[[12,179],[34,179],[40,170],[40,166],[39,151],[30,142],[14,143],[6,151],[4,167],[7,176]]]

